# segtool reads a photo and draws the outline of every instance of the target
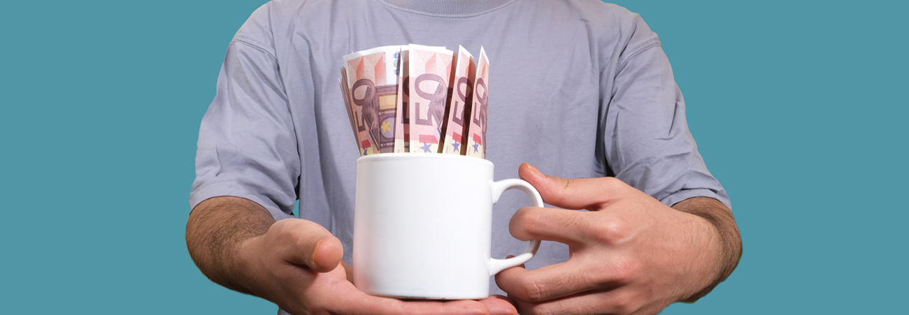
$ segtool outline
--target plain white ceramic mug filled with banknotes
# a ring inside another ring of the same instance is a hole
[[[529,261],[490,257],[493,204],[505,190],[543,200],[528,182],[493,182],[493,163],[432,153],[382,153],[356,161],[354,284],[400,299],[489,296],[489,277]]]

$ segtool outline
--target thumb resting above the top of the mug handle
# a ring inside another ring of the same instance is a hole
[[[596,211],[598,205],[613,202],[631,188],[614,177],[565,179],[548,176],[528,163],[521,164],[518,175],[534,185],[544,202],[564,209]]]

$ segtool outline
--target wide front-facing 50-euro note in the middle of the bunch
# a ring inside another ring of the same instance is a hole
[[[408,111],[410,152],[438,153],[445,120],[445,100],[452,71],[452,51],[410,44]]]

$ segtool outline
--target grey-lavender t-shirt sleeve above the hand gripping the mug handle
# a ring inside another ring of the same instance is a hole
[[[732,208],[707,171],[685,120],[682,92],[654,34],[638,17],[604,96],[605,159],[615,177],[666,205],[704,196]]]

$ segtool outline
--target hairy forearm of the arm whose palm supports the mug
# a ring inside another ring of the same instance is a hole
[[[275,219],[261,205],[237,197],[215,197],[199,203],[186,222],[186,247],[208,279],[247,294],[238,247],[265,234]]]

